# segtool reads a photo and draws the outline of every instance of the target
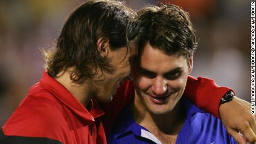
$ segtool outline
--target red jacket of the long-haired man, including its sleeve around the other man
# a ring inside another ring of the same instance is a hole
[[[185,96],[211,114],[218,116],[220,98],[229,91],[206,78],[189,77]],[[114,100],[105,105],[106,130],[118,113],[134,97],[132,83],[125,82]],[[2,127],[0,143],[106,143],[102,111],[95,100],[87,110],[61,83],[43,73],[27,97]],[[209,107],[210,106],[210,107]],[[54,142],[52,142],[54,141]]]

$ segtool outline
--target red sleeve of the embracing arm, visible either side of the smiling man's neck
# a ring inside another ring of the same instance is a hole
[[[216,85],[216,83],[209,78],[195,78],[189,76],[184,96],[189,98],[189,100],[199,108],[211,113],[211,115],[214,115],[215,117],[219,117],[221,97],[228,91],[232,90],[228,87],[220,87]],[[127,81],[119,88],[113,101],[105,104],[106,132],[110,132],[110,129],[115,122],[115,118],[133,97],[134,86],[131,81]]]

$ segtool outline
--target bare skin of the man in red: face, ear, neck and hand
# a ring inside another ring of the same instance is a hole
[[[104,44],[106,45],[105,50],[101,47]],[[85,106],[87,106],[87,103],[93,97],[99,102],[111,101],[112,95],[114,95],[119,83],[124,81],[130,74],[130,59],[136,55],[136,51],[134,49],[128,51],[126,59],[124,60],[126,47],[120,48],[119,52],[115,52],[111,51],[108,44],[106,40],[102,41],[102,39],[99,39],[97,46],[102,56],[105,55],[112,59],[112,65],[116,67],[114,74],[110,75],[104,72],[104,75],[100,77],[101,73],[97,73],[97,76],[91,81],[86,81],[82,84],[74,83],[70,79],[70,75],[74,70],[73,67],[67,68],[57,75],[59,77],[56,78],[56,80],[65,86],[72,95]],[[124,71],[121,71],[122,69]],[[105,77],[106,82],[103,77]],[[230,112],[230,110],[232,110],[232,112]],[[250,115],[250,103],[235,98],[233,101],[220,105],[219,113],[221,121],[227,131],[237,142],[256,142],[256,121],[255,116]],[[242,133],[243,136],[240,135],[238,131]]]

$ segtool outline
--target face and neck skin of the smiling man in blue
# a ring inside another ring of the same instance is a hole
[[[163,143],[175,143],[183,126],[179,100],[192,67],[193,57],[169,56],[149,43],[142,52],[134,77],[134,118]]]

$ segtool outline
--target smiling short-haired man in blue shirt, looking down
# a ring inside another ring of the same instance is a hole
[[[130,44],[138,44],[135,98],[121,113],[109,143],[236,143],[221,121],[182,95],[197,47],[188,13],[174,5],[138,12]]]

